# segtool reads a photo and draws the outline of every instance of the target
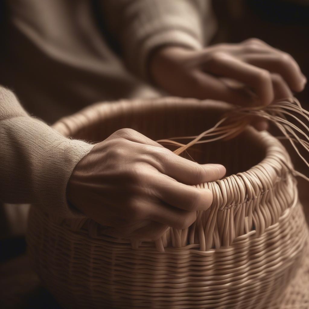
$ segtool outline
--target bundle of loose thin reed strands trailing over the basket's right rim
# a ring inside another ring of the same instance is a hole
[[[295,116],[292,112],[294,112]],[[183,136],[158,140],[157,142],[175,146],[180,146],[178,149],[174,150],[176,155],[180,155],[183,151],[187,150],[191,146],[200,143],[208,143],[213,141],[218,141],[220,139],[231,139],[235,138],[237,135],[243,132],[243,130],[249,125],[248,117],[259,116],[268,121],[271,121],[277,128],[283,133],[283,137],[289,140],[297,155],[303,160],[303,162],[309,167],[308,161],[301,155],[296,142],[298,145],[302,146],[306,152],[309,152],[309,127],[305,122],[299,119],[299,116],[305,118],[309,122],[309,112],[301,107],[301,104],[296,98],[293,99],[283,99],[275,101],[273,104],[267,106],[254,106],[254,107],[242,107],[236,108],[224,115],[224,117],[218,121],[213,128],[208,129],[197,136]],[[301,127],[305,129],[303,131],[297,125],[290,122],[286,116],[292,117]],[[226,124],[229,123],[229,124]],[[303,136],[307,141],[300,138],[297,133]],[[215,138],[209,138],[210,136],[215,136]],[[176,142],[175,139],[192,139],[187,144]],[[297,172],[294,175],[301,176],[304,179],[308,177]]]

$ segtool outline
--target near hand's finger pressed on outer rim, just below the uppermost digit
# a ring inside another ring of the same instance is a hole
[[[207,210],[213,200],[209,189],[182,184],[160,173],[153,176],[149,185],[156,198],[187,211]]]

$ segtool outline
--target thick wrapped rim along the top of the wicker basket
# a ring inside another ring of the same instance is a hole
[[[227,108],[228,106],[228,104],[224,102],[213,100],[200,101],[197,99],[183,99],[177,97],[99,102],[73,115],[61,118],[53,125],[53,128],[59,133],[71,137],[79,130],[86,128],[90,122],[99,123],[100,121],[104,121],[104,119],[117,117],[122,113],[129,112],[133,108],[140,108],[141,112],[143,112],[149,109],[159,111],[166,106],[186,109],[196,105],[204,105],[205,108],[211,107],[214,109],[216,105],[220,108]],[[95,118],[93,117],[94,110],[98,111]],[[106,111],[105,115],[103,115],[102,110]],[[227,175],[221,180],[197,184],[197,186],[201,188],[206,188],[206,185],[208,187],[215,187],[214,192],[218,192],[219,195],[219,197],[217,196],[217,202],[220,203],[220,209],[241,205],[252,199],[256,199],[259,195],[273,190],[276,184],[281,180],[286,180],[289,176],[292,177],[291,171],[293,170],[293,165],[290,157],[276,138],[268,132],[258,132],[253,127],[248,127],[244,131],[244,134],[249,135],[251,138],[254,138],[257,143],[260,143],[261,149],[265,151],[264,158],[247,171]],[[267,177],[262,177],[265,175],[267,175]],[[235,195],[235,192],[238,194]],[[216,197],[214,197],[214,200],[215,199]]]

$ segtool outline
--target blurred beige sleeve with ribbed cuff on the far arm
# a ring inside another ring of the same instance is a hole
[[[171,44],[201,49],[216,27],[210,0],[101,0],[101,7],[127,66],[146,80],[154,49]]]

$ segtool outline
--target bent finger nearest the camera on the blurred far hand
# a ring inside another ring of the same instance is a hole
[[[268,105],[274,99],[273,85],[267,70],[252,66],[226,53],[214,53],[205,62],[204,69],[251,87],[258,96],[260,104]]]

